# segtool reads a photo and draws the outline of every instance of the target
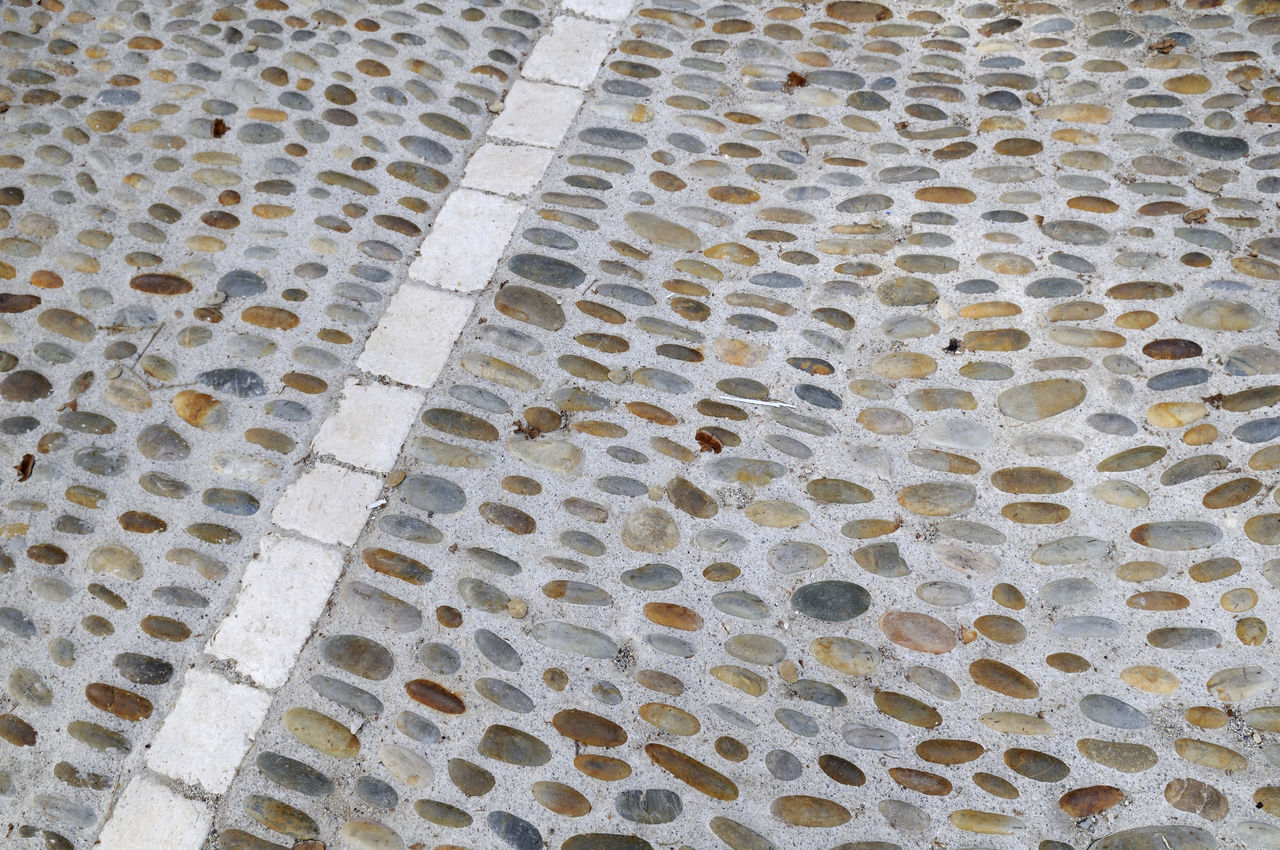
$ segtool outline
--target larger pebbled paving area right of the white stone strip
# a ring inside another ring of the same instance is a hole
[[[1280,847],[1277,36],[643,3],[219,846]]]

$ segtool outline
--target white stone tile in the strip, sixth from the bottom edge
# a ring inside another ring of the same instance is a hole
[[[357,365],[402,384],[430,387],[474,306],[472,296],[406,283],[392,296]]]

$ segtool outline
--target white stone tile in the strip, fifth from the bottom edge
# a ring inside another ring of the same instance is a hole
[[[343,387],[338,410],[320,425],[311,448],[343,463],[389,472],[422,407],[422,393],[402,387],[358,384]]]

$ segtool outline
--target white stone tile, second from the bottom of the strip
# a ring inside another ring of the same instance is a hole
[[[192,670],[183,680],[173,710],[147,750],[147,767],[156,773],[223,794],[236,777],[271,696],[237,685],[207,670]]]

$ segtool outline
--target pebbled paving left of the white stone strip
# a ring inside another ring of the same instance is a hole
[[[545,19],[0,4],[0,844],[92,846]]]

